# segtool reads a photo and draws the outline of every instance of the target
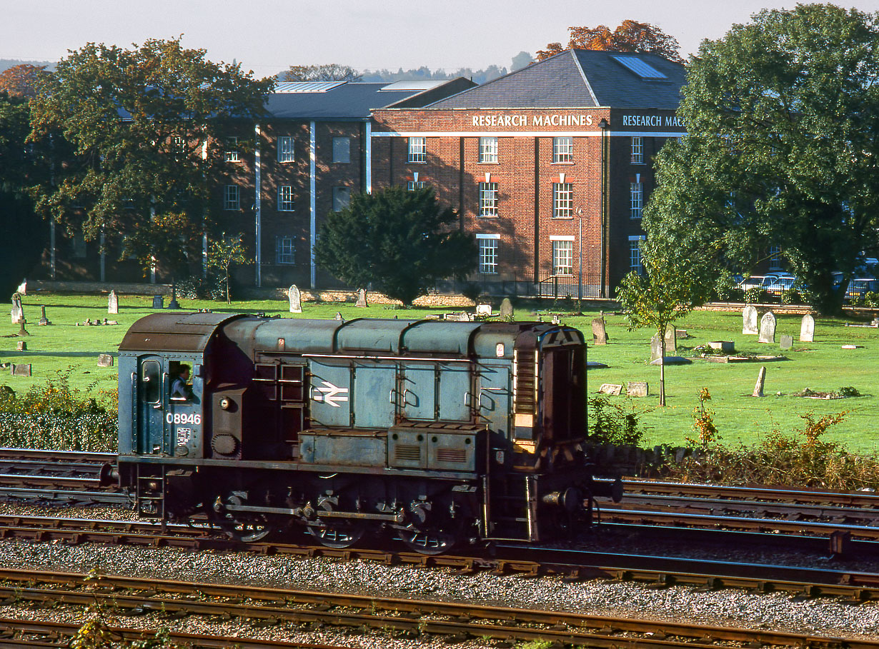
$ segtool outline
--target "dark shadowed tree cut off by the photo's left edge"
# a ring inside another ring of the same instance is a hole
[[[40,261],[47,243],[45,228],[27,193],[44,172],[39,152],[25,147],[29,119],[25,97],[0,92],[0,294],[6,296]]]

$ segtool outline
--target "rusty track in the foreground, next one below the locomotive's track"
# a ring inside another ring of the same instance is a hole
[[[381,629],[409,637],[442,635],[461,641],[496,638],[513,642],[540,640],[562,645],[608,648],[629,645],[657,649],[685,645],[690,649],[730,645],[879,649],[879,641],[859,638],[589,616],[567,611],[108,575],[92,580],[89,586],[84,577],[83,574],[0,570],[0,596],[4,602],[41,605],[63,602],[82,607],[98,602],[116,614],[236,618],[264,628],[281,624],[329,624],[348,629]]]

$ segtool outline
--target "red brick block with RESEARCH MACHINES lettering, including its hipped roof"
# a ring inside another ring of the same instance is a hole
[[[489,292],[606,296],[640,266],[653,155],[684,127],[682,65],[573,50],[423,108],[374,111],[373,186],[432,185]]]

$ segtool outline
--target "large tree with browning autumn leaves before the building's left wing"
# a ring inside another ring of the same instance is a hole
[[[175,277],[214,220],[223,139],[264,112],[274,81],[252,74],[179,39],[72,52],[32,102],[30,139],[70,147],[54,182],[35,189],[38,211],[87,240],[121,234],[120,256]]]

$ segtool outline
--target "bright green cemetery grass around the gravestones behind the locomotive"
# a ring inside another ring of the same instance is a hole
[[[167,301],[167,300],[166,300]],[[282,317],[332,318],[341,312],[346,320],[352,318],[418,319],[444,309],[399,309],[387,306],[355,308],[351,303],[305,303],[301,316],[287,313],[287,300],[234,302],[232,306],[219,302],[181,299],[185,309],[210,308],[216,312],[281,314]],[[51,327],[40,327],[40,305],[46,305]],[[11,386],[16,392],[25,391],[32,383],[43,384],[56,376],[57,371],[70,368],[71,386],[92,389],[111,389],[115,386],[116,368],[99,368],[98,354],[118,350],[128,326],[143,315],[154,313],[149,296],[120,296],[119,315],[106,313],[105,296],[42,295],[25,296],[25,317],[31,333],[24,340],[26,351],[16,351],[20,338],[15,336],[18,325],[0,323],[0,360],[33,364],[33,378],[4,375],[0,384]],[[549,308],[546,306],[545,308]],[[445,309],[448,311],[454,308]],[[8,313],[8,312],[7,312]],[[596,312],[582,317],[563,317],[565,324],[583,329],[587,341],[592,340],[591,321]],[[519,320],[535,319],[527,310],[518,310]],[[104,318],[119,321],[116,326],[76,327],[76,322]],[[798,343],[800,317],[779,315],[776,339],[781,334],[795,337],[794,348],[785,352],[786,361],[766,363],[766,397],[751,395],[760,363],[716,364],[694,360],[693,364],[665,368],[665,386],[668,406],[657,407],[659,369],[645,364],[650,357],[651,331],[628,331],[621,315],[607,314],[607,332],[611,342],[607,346],[590,347],[590,360],[608,365],[607,369],[589,372],[589,390],[597,393],[602,383],[622,383],[646,380],[651,396],[632,399],[611,397],[624,407],[634,409],[647,430],[645,443],[680,444],[692,436],[692,413],[698,405],[698,393],[707,387],[712,400],[708,407],[715,410],[715,422],[725,443],[754,443],[762,433],[777,429],[788,433],[801,428],[799,415],[816,416],[846,411],[846,419],[833,427],[825,436],[829,441],[843,443],[849,450],[872,454],[879,451],[879,385],[876,368],[879,367],[879,329],[846,328],[846,321],[818,318],[815,343]],[[548,319],[548,318],[544,318]],[[755,335],[741,335],[742,316],[737,313],[695,312],[677,323],[686,328],[689,339],[679,341],[680,356],[699,344],[714,340],[731,340],[738,352],[777,352],[777,344],[759,344]],[[843,350],[844,344],[861,345],[859,349]],[[812,400],[790,396],[810,387],[815,391],[831,392],[842,386],[854,386],[864,396],[845,400]],[[781,393],[781,395],[776,395]]]

